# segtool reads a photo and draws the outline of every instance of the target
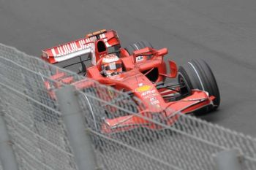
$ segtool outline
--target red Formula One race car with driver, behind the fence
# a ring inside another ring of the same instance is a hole
[[[167,125],[175,123],[177,113],[206,114],[217,109],[219,89],[208,64],[203,60],[189,61],[178,69],[173,61],[165,63],[166,54],[166,48],[156,50],[146,41],[121,47],[116,31],[101,30],[87,34],[83,39],[42,50],[41,57],[53,64],[68,61],[64,67],[79,64],[80,69],[75,68],[78,74],[139,98],[146,106],[144,110],[138,109],[139,115]],[[74,58],[78,61],[71,62]],[[88,68],[84,63],[86,61],[91,64]],[[167,73],[166,65],[170,73]],[[59,73],[53,75],[53,79],[75,84],[72,79],[63,76]],[[178,82],[167,84],[167,78],[177,78]],[[86,86],[85,82],[80,88]],[[142,126],[157,129],[154,123],[128,113],[104,118],[98,128],[104,133],[113,133]]]

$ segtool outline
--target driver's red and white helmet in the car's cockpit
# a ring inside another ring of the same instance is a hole
[[[115,54],[108,54],[102,57],[102,74],[111,77],[123,72],[121,59]]]

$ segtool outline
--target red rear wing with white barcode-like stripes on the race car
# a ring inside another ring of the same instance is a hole
[[[99,41],[104,42],[105,51],[108,51],[110,47],[120,47],[116,31],[101,30],[87,34],[86,38],[42,50],[41,58],[48,63],[59,63],[81,55],[91,54],[91,63],[96,65],[99,59],[99,53],[104,51],[99,49],[98,46],[102,47],[101,43],[97,43]]]

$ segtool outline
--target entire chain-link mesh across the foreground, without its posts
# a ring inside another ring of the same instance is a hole
[[[172,125],[159,116],[151,119],[151,108],[130,93],[4,45],[0,79],[1,112],[19,169],[78,169],[54,91],[66,84],[79,89],[78,106],[102,169],[214,169],[214,154],[232,148],[244,155],[243,169],[256,169],[256,139],[250,136],[179,112],[170,117]],[[127,124],[119,120],[110,127],[118,117]]]

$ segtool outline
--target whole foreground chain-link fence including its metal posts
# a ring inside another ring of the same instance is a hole
[[[75,90],[53,79],[60,72],[90,86]],[[256,139],[189,115],[176,113],[171,126],[143,117],[158,131],[140,127],[104,134],[99,129],[104,117],[142,117],[143,104],[5,45],[0,45],[0,80],[4,170],[256,169]],[[57,100],[49,93],[54,87]]]

